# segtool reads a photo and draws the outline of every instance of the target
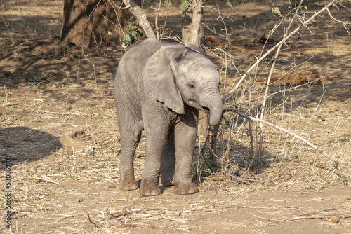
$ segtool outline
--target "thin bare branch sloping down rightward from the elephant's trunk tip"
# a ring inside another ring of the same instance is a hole
[[[349,163],[343,161],[343,160],[336,160],[335,158],[331,158],[330,156],[328,156],[322,149],[319,149],[318,146],[315,146],[314,144],[312,144],[311,142],[307,141],[307,139],[304,139],[303,137],[300,137],[299,135],[297,135],[296,133],[293,133],[289,130],[286,130],[285,128],[279,127],[278,125],[275,125],[274,123],[270,123],[268,121],[264,121],[260,118],[255,118],[252,116],[248,116],[244,113],[241,113],[240,111],[234,110],[234,109],[223,109],[223,112],[227,112],[227,111],[232,111],[234,113],[237,113],[239,116],[242,116],[244,118],[249,119],[250,121],[256,121],[259,123],[264,123],[265,125],[269,125],[272,128],[277,128],[278,130],[281,130],[282,132],[286,132],[289,135],[293,135],[294,137],[300,139],[302,142],[304,142],[305,144],[308,144],[309,146],[311,146],[313,149],[316,149],[317,151],[319,151],[320,153],[322,153],[326,158],[329,158],[330,160],[335,160],[336,162],[340,162],[343,163],[345,165],[349,165]]]

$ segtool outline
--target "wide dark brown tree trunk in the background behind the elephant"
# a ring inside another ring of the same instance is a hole
[[[135,0],[140,6],[140,0]],[[121,0],[64,0],[60,41],[77,46],[120,46],[132,14]]]

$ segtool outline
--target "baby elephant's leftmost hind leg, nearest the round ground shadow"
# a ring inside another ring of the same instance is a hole
[[[126,125],[121,126],[121,157],[119,173],[121,178],[119,179],[119,188],[124,191],[135,190],[138,188],[138,184],[134,177],[134,152],[136,146],[140,141],[141,130],[139,129],[126,129]],[[137,125],[134,125],[137,127]]]

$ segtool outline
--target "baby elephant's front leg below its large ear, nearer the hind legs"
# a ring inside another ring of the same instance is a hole
[[[159,175],[161,172],[161,155],[168,135],[167,120],[153,118],[145,121],[146,150],[143,178],[139,193],[143,196],[159,195]]]

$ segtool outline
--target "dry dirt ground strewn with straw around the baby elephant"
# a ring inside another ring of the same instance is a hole
[[[303,29],[283,46],[265,117],[328,157],[265,128],[263,154],[254,158],[260,125],[227,112],[218,134],[217,169],[209,165],[203,142],[197,143],[193,171],[199,193],[175,195],[173,188],[161,187],[161,195],[145,198],[118,188],[113,78],[125,48],[82,50],[60,43],[62,4],[1,1],[0,233],[351,233],[351,36],[340,22],[321,15],[310,31]],[[234,9],[217,4],[204,8],[204,24],[216,32],[205,29],[204,49],[220,71],[225,95],[261,51],[282,39],[282,29],[263,48],[267,32],[281,22],[270,2],[233,3]],[[282,14],[289,10],[285,1],[274,4]],[[305,16],[324,4],[305,1]],[[155,5],[146,6],[154,17]],[[351,5],[344,6],[331,13],[350,21]],[[179,24],[179,7],[172,6],[165,35],[179,36]],[[272,57],[225,107],[235,104],[257,115]],[[135,156],[137,180],[144,149],[145,137]]]

